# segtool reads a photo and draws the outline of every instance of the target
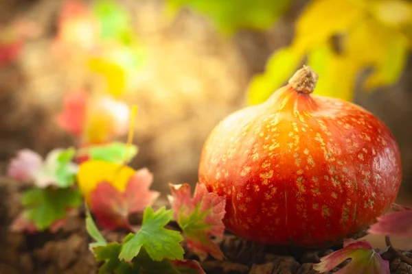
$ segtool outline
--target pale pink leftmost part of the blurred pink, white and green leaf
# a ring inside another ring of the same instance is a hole
[[[30,149],[17,152],[8,166],[8,177],[19,182],[29,182],[34,179],[38,169],[41,169],[43,160],[38,153]]]

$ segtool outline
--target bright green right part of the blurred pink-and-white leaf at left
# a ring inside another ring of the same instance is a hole
[[[73,186],[76,182],[77,166],[71,162],[76,149],[72,147],[62,151],[57,158],[56,166],[56,185],[60,188]]]

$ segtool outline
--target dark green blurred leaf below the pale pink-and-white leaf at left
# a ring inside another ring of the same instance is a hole
[[[27,217],[34,221],[38,230],[65,219],[69,208],[78,208],[82,197],[73,188],[33,188],[23,193],[23,205]]]

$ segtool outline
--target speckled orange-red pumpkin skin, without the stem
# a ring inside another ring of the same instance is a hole
[[[376,222],[396,199],[402,167],[396,140],[373,114],[288,84],[215,127],[198,175],[226,197],[234,234],[327,247]]]

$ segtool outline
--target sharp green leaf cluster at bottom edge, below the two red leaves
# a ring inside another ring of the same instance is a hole
[[[177,231],[164,226],[172,220],[172,210],[151,207],[144,211],[141,229],[128,234],[123,242],[106,242],[90,214],[87,214],[87,231],[95,240],[91,249],[95,260],[103,262],[100,274],[204,274],[198,262],[183,260],[183,240]]]

